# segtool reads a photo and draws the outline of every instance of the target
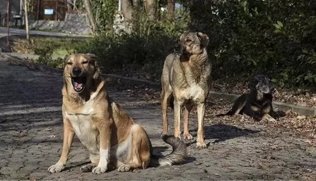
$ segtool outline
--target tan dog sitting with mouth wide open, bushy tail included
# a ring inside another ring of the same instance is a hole
[[[63,147],[59,161],[48,168],[49,172],[64,169],[74,134],[90,152],[91,164],[82,166],[83,172],[99,174],[113,166],[125,172],[148,166],[172,165],[184,160],[186,145],[175,137],[163,137],[173,148],[171,154],[152,154],[145,130],[110,99],[95,55],[73,54],[65,61]]]

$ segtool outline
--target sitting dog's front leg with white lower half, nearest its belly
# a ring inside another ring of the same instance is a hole
[[[106,120],[106,122],[101,122],[98,126],[100,132],[100,161],[99,164],[93,168],[93,174],[104,173],[108,170],[108,163],[110,157],[110,147],[111,147],[111,124]]]

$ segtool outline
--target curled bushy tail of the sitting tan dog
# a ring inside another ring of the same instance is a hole
[[[164,135],[162,139],[171,145],[172,152],[166,156],[152,155],[150,166],[167,166],[183,162],[187,155],[185,142],[172,135]]]

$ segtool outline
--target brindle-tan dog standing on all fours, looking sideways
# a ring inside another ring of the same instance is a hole
[[[209,38],[203,33],[184,32],[179,39],[180,54],[167,56],[161,77],[161,107],[163,135],[168,134],[167,105],[174,107],[174,136],[180,138],[180,115],[185,105],[184,137],[192,139],[188,130],[188,119],[193,105],[197,105],[198,138],[196,148],[206,148],[204,143],[205,101],[211,82],[211,63],[206,46]],[[173,101],[174,99],[174,101]]]

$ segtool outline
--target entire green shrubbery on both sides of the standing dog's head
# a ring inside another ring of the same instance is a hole
[[[149,21],[146,15],[137,15],[132,33],[116,36],[107,31],[75,45],[74,51],[95,53],[108,73],[144,73],[149,79],[158,80],[175,40],[189,29],[210,37],[208,52],[214,79],[240,82],[263,73],[274,78],[279,86],[316,85],[315,3],[309,0],[186,1],[182,3],[188,11],[177,13],[177,18],[166,20],[162,13],[158,20]],[[105,7],[111,9],[112,5]]]

